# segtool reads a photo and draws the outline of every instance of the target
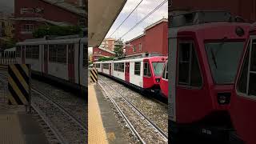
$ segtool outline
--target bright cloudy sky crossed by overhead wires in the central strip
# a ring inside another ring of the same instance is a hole
[[[116,30],[116,28],[121,24],[121,22],[127,17],[128,14],[132,10],[134,10],[135,6],[141,0],[127,0],[126,5],[123,7],[121,13],[118,15],[118,18],[114,22],[113,26],[110,28],[108,34],[106,34],[106,38],[110,36]],[[132,28],[137,22],[139,22],[142,18],[144,18],[150,11],[154,10],[156,6],[158,6],[163,0],[143,0],[143,2],[138,6],[134,13],[130,15],[130,18],[126,20],[122,24],[122,26],[111,36],[112,38],[120,38],[123,34],[125,34],[130,28]],[[125,41],[128,41],[132,38],[137,37],[139,34],[143,34],[144,28],[149,26],[150,24],[157,22],[161,18],[168,18],[168,3],[166,2],[163,6],[161,6],[158,10],[156,10],[153,14],[151,14],[148,18],[146,18],[143,22],[141,22],[138,26],[131,30],[126,36],[123,37]]]

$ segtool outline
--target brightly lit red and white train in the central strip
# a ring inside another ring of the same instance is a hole
[[[126,82],[140,90],[159,90],[165,56],[131,58],[107,62],[94,62],[100,74],[106,74],[119,81]]]

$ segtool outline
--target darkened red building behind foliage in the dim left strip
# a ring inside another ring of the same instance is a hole
[[[15,38],[33,38],[39,26],[87,26],[86,10],[68,2],[54,0],[15,0]]]

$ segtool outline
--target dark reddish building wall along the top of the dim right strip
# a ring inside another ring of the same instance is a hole
[[[179,0],[170,2],[169,10],[226,10],[242,17],[246,22],[256,21],[256,0]]]

